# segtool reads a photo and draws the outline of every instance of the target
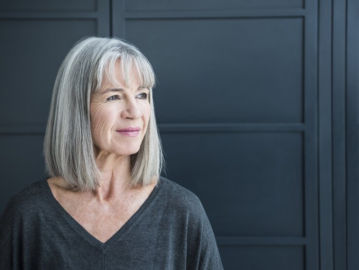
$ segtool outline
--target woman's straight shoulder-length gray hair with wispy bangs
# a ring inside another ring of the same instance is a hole
[[[152,89],[156,78],[151,64],[132,44],[117,38],[89,37],[70,50],[54,84],[44,138],[47,173],[64,178],[72,189],[94,191],[99,168],[90,127],[90,97],[101,88],[104,76],[116,81],[114,66],[121,59],[126,85],[135,70],[141,86],[149,89],[151,115],[139,152],[131,155],[130,188],[158,182],[164,166]]]

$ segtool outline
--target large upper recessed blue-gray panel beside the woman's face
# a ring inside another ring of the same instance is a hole
[[[160,123],[302,122],[302,31],[299,18],[126,21]]]

